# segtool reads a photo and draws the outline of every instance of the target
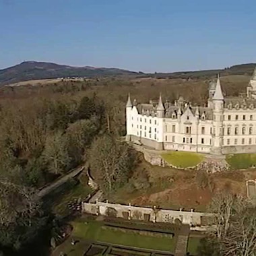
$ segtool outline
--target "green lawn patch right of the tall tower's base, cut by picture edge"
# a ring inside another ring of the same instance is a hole
[[[226,162],[235,169],[247,169],[256,166],[256,154],[234,154],[227,155]]]

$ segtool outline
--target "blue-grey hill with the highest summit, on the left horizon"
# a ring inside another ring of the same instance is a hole
[[[139,72],[105,67],[71,67],[55,63],[25,61],[7,69],[0,69],[0,86],[16,82],[57,77],[106,77],[139,75]]]

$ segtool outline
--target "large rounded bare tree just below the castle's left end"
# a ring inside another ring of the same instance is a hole
[[[105,134],[92,144],[89,159],[92,176],[100,189],[108,194],[127,182],[135,155],[126,143]]]

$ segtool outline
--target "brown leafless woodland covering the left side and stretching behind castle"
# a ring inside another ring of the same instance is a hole
[[[249,77],[224,79],[238,96]],[[0,89],[0,249],[17,252],[53,222],[37,191],[72,168],[90,162],[104,193],[127,183],[137,162],[125,135],[128,93],[139,102],[180,95],[205,104],[208,80],[92,79]]]

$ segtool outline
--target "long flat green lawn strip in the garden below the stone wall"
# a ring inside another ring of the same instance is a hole
[[[100,222],[72,222],[73,236],[105,243],[113,243],[130,247],[174,251],[176,238],[153,237],[133,234],[129,231],[107,230]]]

